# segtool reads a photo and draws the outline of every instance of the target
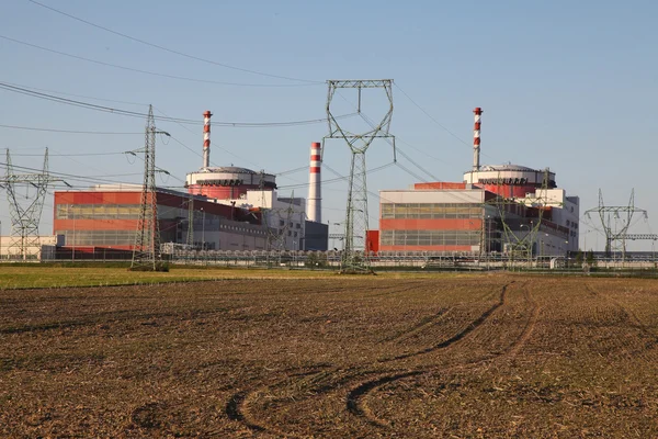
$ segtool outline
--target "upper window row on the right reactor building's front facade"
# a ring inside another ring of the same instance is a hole
[[[383,203],[382,218],[479,218],[481,204],[473,203]]]

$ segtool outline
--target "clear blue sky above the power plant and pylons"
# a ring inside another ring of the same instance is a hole
[[[398,146],[442,181],[461,181],[472,164],[475,106],[481,106],[483,164],[511,161],[549,167],[558,185],[594,207],[601,188],[606,204],[635,200],[649,213],[634,232],[658,232],[655,207],[654,132],[658,98],[655,1],[53,1],[42,3],[113,31],[196,57],[268,75],[314,81],[390,78],[395,112],[392,133]],[[277,79],[181,57],[90,26],[27,0],[3,1],[0,35],[53,50],[122,65],[132,69],[194,79],[250,85],[237,87],[163,78],[91,64],[0,38],[0,82],[59,93],[87,102],[146,112],[156,116],[202,120],[212,110],[216,122],[277,122],[325,116],[325,83]],[[428,117],[405,94],[429,113]],[[100,98],[123,102],[99,101]],[[351,100],[349,94],[344,98]],[[381,115],[372,98],[368,115]],[[344,102],[343,102],[344,103]],[[343,105],[349,112],[347,103]],[[0,90],[0,124],[72,131],[135,132],[144,120],[63,105]],[[157,122],[178,140],[201,153],[201,126]],[[186,130],[185,130],[186,128]],[[212,161],[282,172],[308,162],[310,142],[327,133],[325,124],[277,127],[214,127]],[[452,133],[452,134],[451,134]],[[39,167],[53,154],[50,170],[81,176],[126,175],[140,182],[143,166],[121,155],[139,148],[143,135],[82,135],[0,127],[0,148],[10,148],[14,165]],[[69,155],[69,156],[56,156]],[[347,147],[338,142],[326,164],[344,175]],[[201,166],[201,158],[171,140],[158,143],[158,166],[178,179]],[[374,144],[368,166],[392,159],[390,147]],[[0,160],[4,162],[4,159]],[[405,158],[400,164],[433,180]],[[4,172],[4,169],[0,169]],[[324,169],[324,178],[336,176]],[[110,178],[109,179],[113,179]],[[304,184],[305,171],[286,175],[280,187]],[[407,188],[418,181],[392,166],[368,178],[368,189]],[[81,182],[75,184],[87,185]],[[163,185],[181,184],[170,178]],[[324,187],[324,219],[340,222],[345,183]],[[282,194],[290,190],[282,189]],[[295,195],[307,195],[298,187]],[[52,233],[52,195],[42,233]],[[371,225],[378,199],[372,196]],[[583,221],[587,223],[585,218]],[[9,233],[2,193],[0,221]],[[595,218],[590,224],[598,224]],[[581,226],[585,232],[586,224]],[[337,230],[338,232],[338,230]],[[595,238],[598,236],[598,238]],[[588,247],[603,238],[592,232]],[[582,243],[582,237],[581,237]],[[651,249],[650,243],[633,249]]]

